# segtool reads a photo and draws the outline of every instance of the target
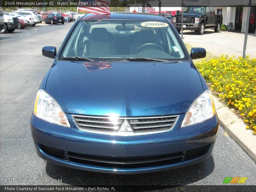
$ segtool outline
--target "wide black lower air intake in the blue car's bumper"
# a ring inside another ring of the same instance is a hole
[[[63,151],[56,148],[47,147],[38,143],[38,147],[45,153],[70,162],[76,162],[87,165],[103,166],[110,168],[140,168],[174,164],[182,161],[188,161],[206,154],[212,144],[201,146],[195,149],[180,151],[172,154],[156,156],[135,156],[135,157],[117,157],[117,156],[95,156],[79,154],[70,151]]]

